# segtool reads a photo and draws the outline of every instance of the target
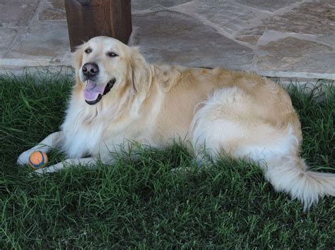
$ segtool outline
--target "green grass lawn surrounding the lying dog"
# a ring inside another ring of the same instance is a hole
[[[256,165],[230,159],[171,173],[191,164],[178,144],[143,149],[136,162],[124,155],[97,169],[28,177],[16,158],[58,130],[70,85],[61,76],[39,85],[29,75],[0,77],[0,249],[334,248],[334,198],[304,213]],[[302,120],[302,156],[334,173],[335,86],[323,94],[292,87],[290,95]]]

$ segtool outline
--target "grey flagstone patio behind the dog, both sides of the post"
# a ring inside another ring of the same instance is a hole
[[[335,1],[132,0],[151,62],[335,80]],[[71,65],[63,0],[0,2],[0,73]]]

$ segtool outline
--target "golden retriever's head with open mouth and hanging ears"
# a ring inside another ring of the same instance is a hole
[[[76,84],[87,104],[101,101],[109,92],[141,92],[148,84],[148,65],[136,48],[111,37],[94,37],[74,54]]]

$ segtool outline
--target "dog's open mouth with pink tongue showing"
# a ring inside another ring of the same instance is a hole
[[[114,83],[114,78],[105,85],[98,85],[97,82],[87,80],[84,90],[84,98],[86,103],[90,105],[98,104],[98,102],[102,99],[102,96],[110,92],[110,89],[112,89]]]

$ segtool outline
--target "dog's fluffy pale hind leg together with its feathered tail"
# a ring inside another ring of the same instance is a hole
[[[242,90],[216,92],[194,116],[193,141],[199,142],[196,149],[206,144],[211,158],[225,152],[259,163],[274,189],[301,201],[305,211],[322,196],[335,196],[335,174],[310,171],[299,156],[298,117],[278,113],[283,118],[274,125],[254,111],[257,106]]]

